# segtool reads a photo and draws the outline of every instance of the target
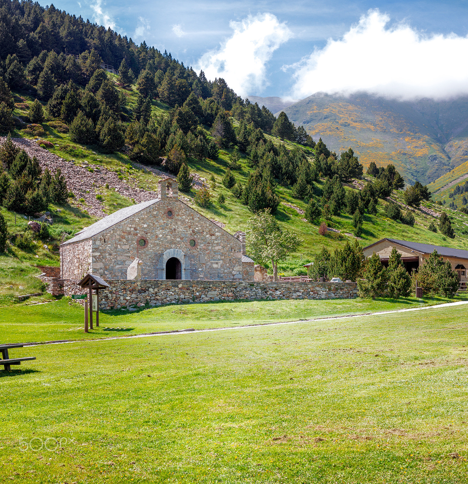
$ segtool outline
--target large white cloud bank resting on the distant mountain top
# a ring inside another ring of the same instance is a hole
[[[423,35],[370,10],[339,40],[330,39],[295,69],[293,95],[367,91],[389,97],[442,99],[468,92],[468,37]]]

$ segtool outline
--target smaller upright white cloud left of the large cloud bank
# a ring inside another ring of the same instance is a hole
[[[218,50],[207,52],[197,69],[208,79],[223,77],[228,86],[245,96],[268,85],[266,64],[273,52],[292,36],[285,23],[272,14],[249,15],[241,22],[231,21],[234,33]]]

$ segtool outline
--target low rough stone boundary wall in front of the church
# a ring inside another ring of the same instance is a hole
[[[78,281],[64,280],[64,294],[83,294]],[[151,306],[170,302],[234,301],[236,299],[354,299],[357,284],[334,282],[251,282],[110,280],[99,290],[99,308],[119,309],[148,302]]]

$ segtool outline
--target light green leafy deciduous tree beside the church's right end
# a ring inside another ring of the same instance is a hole
[[[247,245],[256,262],[272,263],[273,280],[278,280],[278,262],[302,245],[302,240],[287,229],[282,229],[270,209],[258,212],[248,221]]]

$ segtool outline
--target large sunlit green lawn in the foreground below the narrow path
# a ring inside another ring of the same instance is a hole
[[[12,350],[0,479],[465,483],[464,312]]]

